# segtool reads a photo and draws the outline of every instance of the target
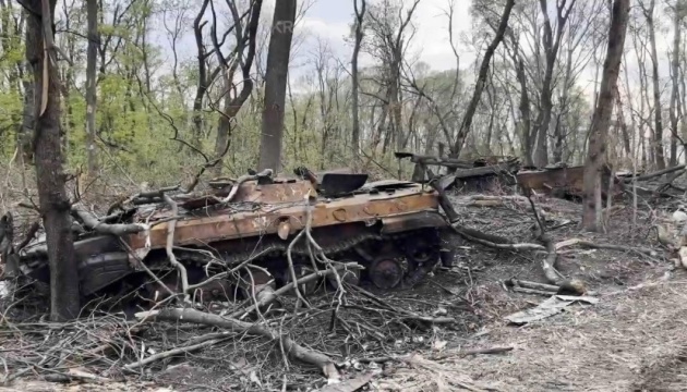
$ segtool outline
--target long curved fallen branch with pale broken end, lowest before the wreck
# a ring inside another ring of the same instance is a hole
[[[135,317],[141,321],[157,320],[172,322],[192,322],[204,326],[226,328],[233,332],[245,332],[260,335],[273,341],[274,343],[279,343],[279,345],[284,347],[285,353],[289,357],[317,366],[317,368],[329,379],[339,379],[339,373],[336,369],[335,363],[328,356],[314,351],[310,351],[302,345],[296,343],[288,335],[281,335],[265,326],[253,324],[250,322],[237,320],[234,318],[212,315],[190,308],[143,311],[136,314]]]

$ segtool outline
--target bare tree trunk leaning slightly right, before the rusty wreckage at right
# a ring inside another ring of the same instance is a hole
[[[590,231],[601,229],[601,171],[604,167],[606,138],[617,88],[625,33],[629,19],[629,0],[614,0],[608,28],[608,48],[603,64],[599,100],[592,118],[589,148],[584,163],[584,203],[582,226]]]

